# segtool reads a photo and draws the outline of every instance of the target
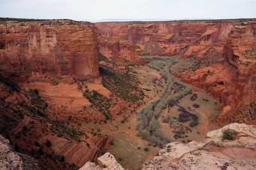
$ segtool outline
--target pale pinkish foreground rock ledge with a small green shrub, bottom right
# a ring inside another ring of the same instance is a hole
[[[228,128],[236,131],[232,141],[222,137]],[[255,125],[236,123],[208,132],[204,142],[170,143],[143,169],[255,169],[255,132]]]

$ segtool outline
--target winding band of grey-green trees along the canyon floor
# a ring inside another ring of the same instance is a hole
[[[164,87],[159,99],[152,101],[152,103],[137,112],[137,128],[143,139],[147,139],[163,148],[173,139],[163,132],[157,118],[159,118],[162,110],[166,107],[173,107],[179,99],[189,94],[191,88],[173,79],[172,74],[170,74],[170,66],[174,63],[172,58],[142,57],[142,59],[150,60],[148,67],[160,71],[161,76],[166,81],[166,87]],[[172,92],[173,94],[171,95]]]

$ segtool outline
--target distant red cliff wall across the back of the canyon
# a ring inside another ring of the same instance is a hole
[[[106,38],[130,41],[140,55],[198,55],[212,48],[222,52],[228,33],[237,21],[101,22]]]

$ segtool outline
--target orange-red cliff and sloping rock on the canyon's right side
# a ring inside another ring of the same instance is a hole
[[[207,89],[228,106],[219,116],[219,124],[234,117],[232,110],[240,110],[256,101],[255,32],[256,22],[237,22],[223,48],[223,62],[180,75],[184,82]]]

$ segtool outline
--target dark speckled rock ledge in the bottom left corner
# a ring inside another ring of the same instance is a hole
[[[39,169],[38,163],[28,155],[15,152],[8,139],[0,134],[0,169]]]

